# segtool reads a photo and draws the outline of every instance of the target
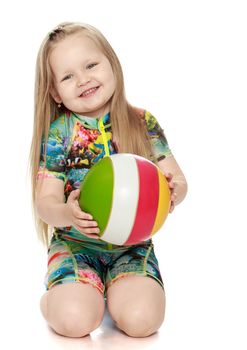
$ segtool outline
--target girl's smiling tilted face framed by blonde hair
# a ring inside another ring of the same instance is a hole
[[[116,81],[110,62],[91,39],[83,33],[66,37],[53,48],[50,66],[57,103],[89,117],[109,112]]]

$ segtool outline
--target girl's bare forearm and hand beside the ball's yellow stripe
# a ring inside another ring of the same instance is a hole
[[[162,173],[166,176],[172,192],[171,211],[181,203],[187,194],[187,181],[173,156],[169,156],[158,162]]]

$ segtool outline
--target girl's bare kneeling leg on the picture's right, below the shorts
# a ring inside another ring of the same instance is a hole
[[[128,276],[108,288],[107,304],[118,328],[132,337],[147,337],[164,320],[165,292],[150,277]]]

